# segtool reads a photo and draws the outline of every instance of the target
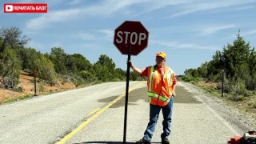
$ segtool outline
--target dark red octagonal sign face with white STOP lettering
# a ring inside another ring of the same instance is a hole
[[[138,55],[147,47],[149,32],[137,21],[125,21],[114,30],[114,45],[122,54]]]

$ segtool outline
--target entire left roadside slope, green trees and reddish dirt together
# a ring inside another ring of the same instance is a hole
[[[41,78],[37,82],[37,94],[40,95],[126,80],[126,70],[117,67],[106,54],[101,54],[97,62],[90,62],[84,55],[67,54],[61,47],[51,47],[49,52],[42,53],[37,48],[26,47],[29,42],[31,39],[22,36],[18,27],[0,27],[0,87],[15,89],[0,90],[0,102],[34,95],[34,78],[31,75],[34,70]],[[144,79],[130,71],[130,80]]]

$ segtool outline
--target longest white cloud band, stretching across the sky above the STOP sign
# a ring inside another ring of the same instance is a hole
[[[54,0],[58,2],[59,0]],[[76,3],[77,0],[71,2]],[[73,9],[66,10],[49,10],[47,14],[42,14],[38,18],[30,19],[26,22],[26,29],[39,30],[46,26],[51,26],[54,22],[72,21],[76,18],[90,17],[113,17],[115,15],[138,16],[147,14],[154,10],[161,10],[163,7],[170,5],[178,5],[190,2],[189,0],[180,1],[151,1],[151,0],[102,0],[91,6],[77,6]],[[138,9],[134,9],[138,7]]]

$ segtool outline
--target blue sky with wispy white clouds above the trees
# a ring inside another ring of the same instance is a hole
[[[47,14],[5,14],[6,2],[46,2]],[[127,69],[127,55],[114,46],[114,30],[126,20],[149,31],[146,49],[131,61],[138,68],[155,64],[166,53],[175,74],[209,62],[216,50],[232,44],[240,30],[256,47],[256,0],[1,0],[0,27],[16,26],[31,38],[27,47],[50,53],[82,54],[91,63],[101,54]]]

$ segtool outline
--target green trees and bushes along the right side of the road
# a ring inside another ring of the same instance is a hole
[[[182,79],[198,82],[222,82],[224,71],[224,91],[238,100],[239,95],[250,96],[256,90],[256,52],[250,42],[246,42],[238,30],[233,44],[228,43],[222,50],[216,50],[210,62],[198,68],[186,69]],[[219,88],[220,85],[218,85]]]

